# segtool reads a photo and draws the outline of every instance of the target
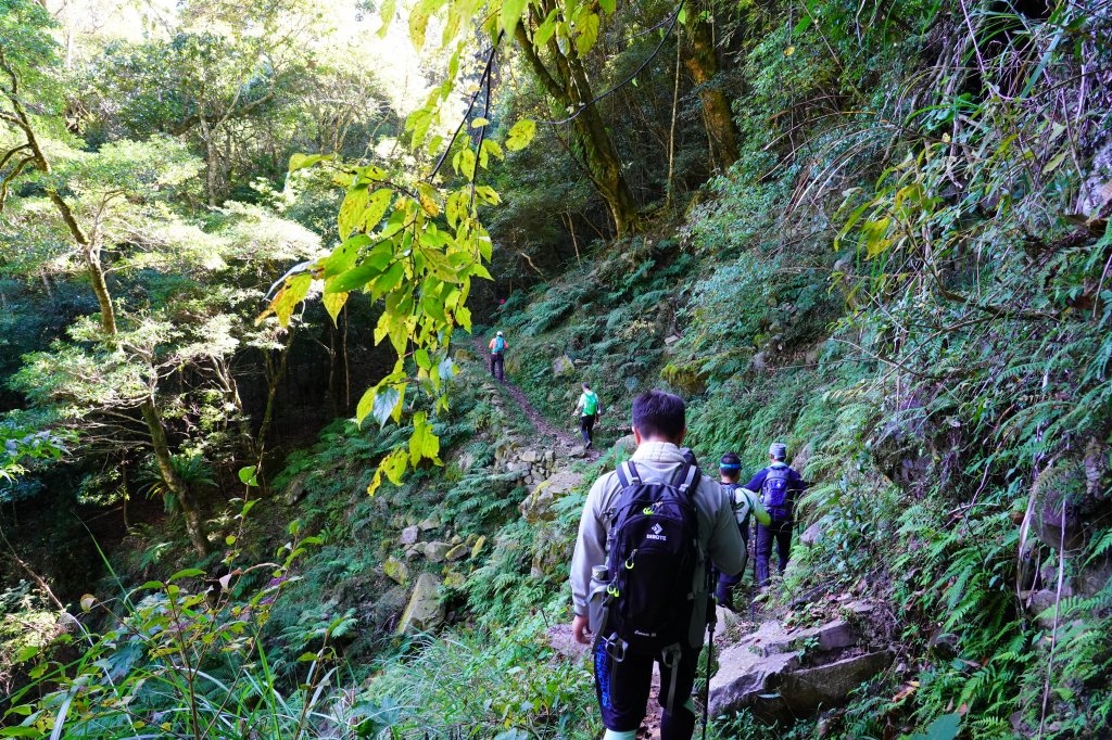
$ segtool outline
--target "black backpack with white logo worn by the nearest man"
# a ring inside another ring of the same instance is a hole
[[[668,483],[644,482],[629,461],[610,513],[606,637],[609,653],[661,654],[688,641],[695,578],[707,568],[698,541],[698,468],[684,463]]]

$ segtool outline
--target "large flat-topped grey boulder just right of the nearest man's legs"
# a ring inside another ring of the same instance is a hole
[[[833,708],[892,659],[887,648],[871,648],[843,620],[807,629],[768,621],[722,651],[711,678],[711,713],[751,709],[776,719]]]

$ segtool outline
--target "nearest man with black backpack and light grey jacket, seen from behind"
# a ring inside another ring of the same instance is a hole
[[[595,481],[572,560],[572,631],[594,634],[604,740],[634,740],[661,668],[662,740],[695,730],[692,689],[708,627],[709,561],[744,566],[734,509],[718,483],[684,459],[683,400],[648,391],[633,402],[637,450]],[[704,717],[705,719],[705,717]]]

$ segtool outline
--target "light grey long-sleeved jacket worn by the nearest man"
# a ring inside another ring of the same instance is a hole
[[[679,448],[669,442],[642,442],[633,453],[637,472],[645,482],[669,482],[676,469],[683,466],[684,457]],[[587,597],[590,589],[590,569],[606,564],[606,534],[610,521],[606,512],[617,503],[622,483],[616,472],[609,472],[590,487],[587,501],[583,506],[579,520],[579,537],[572,558],[572,602],[575,613],[587,614]],[[698,512],[698,536],[703,551],[719,571],[734,576],[745,567],[745,544],[742,542],[734,508],[723,492],[718,481],[703,476],[695,489],[695,508]],[[695,574],[695,614],[692,619],[692,644],[702,643],[703,626],[706,624],[706,593],[702,572]],[[696,630],[698,639],[696,641]]]

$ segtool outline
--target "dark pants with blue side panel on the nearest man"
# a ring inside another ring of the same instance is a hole
[[[695,731],[695,713],[689,709],[698,670],[698,650],[684,649],[676,667],[661,663],[661,692],[657,701],[661,713],[661,740],[689,740]],[[628,732],[641,727],[648,709],[648,694],[653,683],[653,663],[661,656],[634,656],[626,653],[622,662],[606,653],[606,642],[595,644],[595,696],[603,711],[603,724],[615,732]],[[675,671],[675,690],[671,710],[665,707],[672,689],[672,673]]]

